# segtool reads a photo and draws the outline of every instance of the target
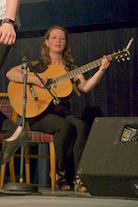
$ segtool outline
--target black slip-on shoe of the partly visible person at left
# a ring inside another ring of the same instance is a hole
[[[28,137],[27,131],[22,129],[21,133],[15,140],[5,141],[4,150],[0,154],[0,165],[9,162],[16,150],[21,146],[25,146],[29,140],[30,138]]]

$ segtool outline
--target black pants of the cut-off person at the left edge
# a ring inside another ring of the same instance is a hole
[[[5,58],[10,50],[10,45],[0,44],[0,69],[5,61]],[[4,138],[10,137],[17,128],[17,124],[8,119],[2,112],[0,112],[0,132],[3,133]]]

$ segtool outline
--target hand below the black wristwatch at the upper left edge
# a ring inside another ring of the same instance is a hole
[[[14,26],[9,23],[3,23],[0,26],[0,44],[12,45],[16,40]]]

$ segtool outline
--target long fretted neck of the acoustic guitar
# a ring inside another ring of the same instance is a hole
[[[107,55],[106,58],[108,59],[108,61],[111,61],[112,60],[112,57],[111,55]],[[67,74],[65,75],[62,75],[58,78],[56,78],[56,81],[58,84],[64,82],[64,81],[67,81],[67,80],[70,80],[72,78],[74,78],[75,76],[79,75],[79,74],[82,74],[82,73],[86,73],[87,71],[90,71],[94,68],[97,68],[101,65],[102,63],[102,59],[103,58],[100,58],[100,59],[97,59],[91,63],[88,63],[86,65],[83,65],[79,68],[76,68],[75,70],[72,70],[72,71],[69,71]]]

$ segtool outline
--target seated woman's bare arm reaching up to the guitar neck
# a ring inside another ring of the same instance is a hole
[[[103,58],[102,64],[99,70],[91,78],[86,80],[82,74],[75,77],[74,80],[77,80],[77,79],[80,80],[78,89],[85,93],[88,93],[90,90],[92,90],[97,85],[97,83],[100,81],[101,77],[104,74],[104,71],[107,69],[109,64],[110,64],[109,61],[106,58]]]

